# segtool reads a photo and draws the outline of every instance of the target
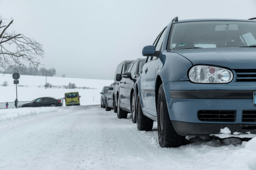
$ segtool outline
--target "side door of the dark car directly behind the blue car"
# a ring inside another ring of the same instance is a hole
[[[137,68],[137,61],[135,61],[133,64],[131,64],[131,69],[127,72],[131,73],[132,78],[124,78],[125,79],[125,107],[130,110],[130,91],[131,86],[133,85],[133,82],[135,81],[135,72]]]

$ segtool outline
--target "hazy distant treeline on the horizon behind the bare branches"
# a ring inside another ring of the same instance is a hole
[[[56,75],[56,70],[55,68],[50,68],[46,69],[44,67],[38,69],[34,67],[26,67],[24,66],[23,68],[17,68],[17,72],[21,75],[31,75],[31,76],[48,76],[48,77],[53,77]],[[13,74],[15,72],[15,68],[8,67],[5,69],[4,74]]]

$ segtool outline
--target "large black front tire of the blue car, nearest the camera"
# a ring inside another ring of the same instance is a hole
[[[185,136],[178,135],[169,116],[166,98],[161,84],[157,99],[157,131],[159,145],[162,148],[180,147],[185,143]]]

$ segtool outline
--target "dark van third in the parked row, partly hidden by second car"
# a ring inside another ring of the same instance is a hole
[[[117,68],[116,68],[116,72],[115,72],[115,79],[114,79],[114,83],[113,83],[113,88],[114,88],[114,106],[113,106],[113,110],[116,113],[117,112],[117,98],[115,96],[117,96],[117,89],[119,86],[119,81],[116,80],[116,76],[117,74],[119,74],[119,79],[122,79],[122,74],[126,71],[126,69],[128,68],[128,66],[133,62],[134,60],[125,60],[122,61],[120,64],[118,64]]]

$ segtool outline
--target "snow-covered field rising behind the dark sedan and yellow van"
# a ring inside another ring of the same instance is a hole
[[[0,92],[3,96],[0,98],[0,102],[14,102],[16,99],[16,87],[13,84],[12,75],[0,74],[0,85],[2,85],[4,81],[8,82],[8,86],[0,86]],[[94,89],[45,89],[43,88],[43,85],[45,85],[45,77],[21,75],[19,86],[24,87],[18,87],[18,100],[32,101],[35,98],[45,96],[63,98],[65,92],[79,92],[81,105],[100,104],[100,92],[103,86],[110,85],[113,80],[47,77],[47,82],[53,86],[67,86],[68,83],[75,83],[77,87]],[[39,88],[38,86],[42,87]]]

